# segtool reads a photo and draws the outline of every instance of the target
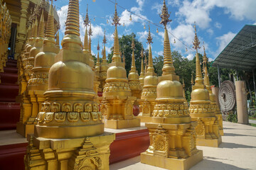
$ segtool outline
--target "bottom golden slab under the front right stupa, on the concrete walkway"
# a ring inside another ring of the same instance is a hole
[[[193,156],[186,159],[174,159],[168,157],[161,157],[158,155],[148,154],[143,152],[141,154],[141,162],[151,166],[157,166],[164,169],[171,170],[188,170],[198,162],[203,160],[203,151],[198,150]]]

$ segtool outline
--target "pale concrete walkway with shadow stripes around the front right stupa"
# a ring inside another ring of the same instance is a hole
[[[238,123],[223,122],[224,136],[220,147],[199,147],[203,161],[191,170],[256,170],[256,128]],[[111,170],[160,170],[140,163],[140,157],[110,165]]]

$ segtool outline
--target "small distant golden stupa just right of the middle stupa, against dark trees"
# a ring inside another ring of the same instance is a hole
[[[135,66],[134,48],[134,38],[132,38],[132,67],[128,74],[128,84],[132,91],[132,96],[140,99],[142,96],[142,86],[139,84],[139,74]],[[137,101],[134,101],[134,105],[139,106]]]

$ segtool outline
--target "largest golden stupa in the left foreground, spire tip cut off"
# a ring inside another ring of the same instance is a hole
[[[94,74],[82,52],[79,2],[70,0],[62,49],[50,67],[47,98],[28,135],[26,169],[109,169],[112,133],[104,132]]]

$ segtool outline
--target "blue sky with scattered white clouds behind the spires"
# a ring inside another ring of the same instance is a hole
[[[114,0],[111,0],[114,1]],[[114,14],[114,4],[109,0],[80,0],[80,34],[83,42],[83,36],[85,35],[85,28],[82,24],[82,16],[85,16],[87,4],[89,6],[89,18],[92,19],[92,54],[97,54],[97,41],[100,40],[102,44],[102,38],[104,30],[107,35],[107,53],[110,52],[110,47],[113,46],[114,26],[111,25],[112,16]],[[135,33],[137,39],[143,42],[144,48],[147,48],[146,36],[148,34],[148,21],[142,18],[146,18],[153,23],[159,22],[161,18],[162,0],[117,0],[120,8],[117,6],[117,13],[119,14],[122,23],[119,26],[119,36]],[[68,0],[54,1],[54,5],[57,7],[58,14],[60,16],[60,40],[62,40],[66,19],[68,12]],[[256,1],[255,0],[166,0],[166,5],[169,12],[171,12],[171,23],[167,28],[174,36],[169,33],[171,42],[171,50],[177,50],[181,52],[183,57],[187,57],[189,60],[193,59],[195,52],[191,50],[194,38],[193,23],[196,21],[198,38],[203,41],[206,46],[206,53],[209,60],[214,60],[215,57],[224,49],[228,42],[234,38],[240,29],[245,24],[256,24]],[[129,13],[132,11],[134,14]],[[129,21],[130,15],[132,16],[132,22]],[[95,21],[94,21],[95,18]],[[107,20],[109,21],[107,23]],[[124,23],[124,26],[123,26]],[[146,25],[146,29],[144,29]],[[159,33],[156,33],[156,26],[150,24],[151,34],[153,36],[152,51],[153,55],[163,54],[163,41],[164,30],[159,29]],[[174,39],[176,43],[174,43]],[[188,46],[186,52],[186,46],[179,40]],[[199,50],[203,53],[203,47]]]

